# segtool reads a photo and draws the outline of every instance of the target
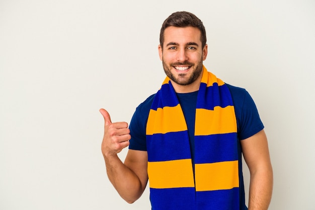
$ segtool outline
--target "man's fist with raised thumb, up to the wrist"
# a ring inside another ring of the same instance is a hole
[[[100,109],[104,117],[104,137],[102,142],[103,156],[114,156],[122,149],[129,146],[130,130],[127,122],[112,123],[109,113],[105,109]]]

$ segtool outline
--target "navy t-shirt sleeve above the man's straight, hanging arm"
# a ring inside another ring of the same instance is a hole
[[[232,98],[238,121],[238,137],[243,140],[264,129],[264,125],[251,95],[242,88],[235,92],[237,94],[232,94]]]

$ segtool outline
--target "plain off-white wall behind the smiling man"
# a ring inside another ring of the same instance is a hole
[[[183,10],[205,25],[208,70],[256,102],[269,209],[315,209],[312,0],[1,0],[0,209],[150,209],[148,189],[127,204],[109,182],[99,109],[129,122],[160,88],[160,28]]]

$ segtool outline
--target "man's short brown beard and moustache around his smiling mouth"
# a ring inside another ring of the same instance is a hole
[[[170,63],[170,65],[168,66],[166,64],[166,62],[164,61],[164,59],[162,60],[162,63],[163,63],[163,68],[164,68],[165,74],[176,84],[184,85],[184,86],[190,85],[193,82],[195,82],[199,78],[199,76],[201,75],[202,69],[203,69],[202,59],[200,59],[200,61],[196,65],[187,61],[187,62],[183,62],[183,63],[180,63],[180,62]],[[172,71],[171,71],[171,69],[175,65],[189,65],[189,66],[191,66],[190,68],[195,67],[195,69],[189,77],[187,76],[187,74],[179,74],[178,78],[176,78],[175,75],[172,74]]]

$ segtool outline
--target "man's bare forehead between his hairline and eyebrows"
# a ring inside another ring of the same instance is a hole
[[[196,42],[201,45],[201,32],[195,27],[174,27],[170,26],[164,31],[164,45],[175,42],[178,44],[186,44],[188,42]]]

